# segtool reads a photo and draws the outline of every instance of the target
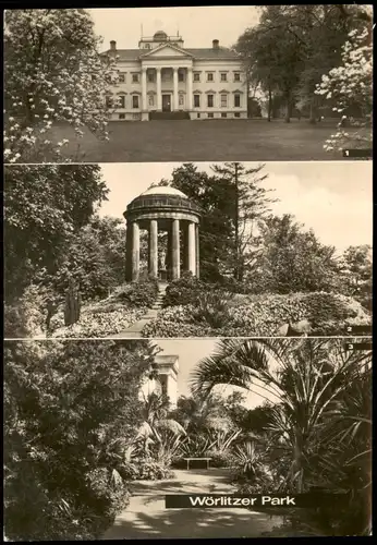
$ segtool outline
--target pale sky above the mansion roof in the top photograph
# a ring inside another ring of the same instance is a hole
[[[163,31],[169,36],[182,36],[184,47],[205,48],[218,39],[231,47],[245,28],[258,22],[258,10],[251,5],[192,8],[107,8],[92,9],[95,32],[104,38],[104,50],[110,40],[118,49],[137,49],[142,35],[153,36]]]

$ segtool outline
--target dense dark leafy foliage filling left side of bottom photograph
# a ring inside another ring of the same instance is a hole
[[[94,540],[126,505],[146,341],[8,342],[5,526],[12,541]]]

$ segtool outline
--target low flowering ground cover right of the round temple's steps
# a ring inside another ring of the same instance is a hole
[[[352,298],[326,292],[230,296],[207,292],[195,304],[163,308],[143,330],[146,337],[277,336],[284,324],[307,320],[312,336],[344,335],[370,316]]]

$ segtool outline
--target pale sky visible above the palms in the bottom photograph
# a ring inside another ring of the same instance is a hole
[[[193,368],[199,363],[203,358],[209,356],[217,347],[217,339],[153,339],[151,342],[162,350],[160,354],[178,355],[179,356],[179,373],[178,373],[178,395],[190,395],[190,374]],[[273,363],[271,364],[273,368]],[[253,392],[247,392],[242,388],[231,386],[217,386],[215,392],[228,396],[232,391],[242,391],[245,393],[244,405],[248,409],[254,409],[260,405],[265,399],[258,392],[267,397],[270,401],[276,401],[276,398],[268,396],[266,390],[254,387]]]

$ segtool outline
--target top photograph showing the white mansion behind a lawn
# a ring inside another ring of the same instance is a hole
[[[9,10],[4,160],[370,159],[372,13]]]

